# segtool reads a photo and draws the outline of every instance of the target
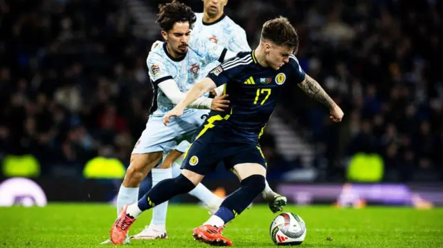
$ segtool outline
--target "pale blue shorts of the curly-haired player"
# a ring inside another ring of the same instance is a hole
[[[132,154],[155,153],[159,151],[185,152],[192,135],[208,117],[209,110],[186,111],[181,117],[172,117],[168,126],[163,124],[163,115],[150,115],[145,131],[138,139]],[[183,140],[186,142],[181,143]],[[178,144],[181,146],[177,147]]]

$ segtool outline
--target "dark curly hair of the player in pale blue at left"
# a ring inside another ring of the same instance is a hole
[[[192,29],[195,21],[197,21],[197,17],[195,17],[191,8],[184,3],[179,3],[177,0],[171,3],[160,4],[159,10],[159,19],[157,19],[156,23],[167,32],[172,29],[176,22],[188,21],[189,27]]]

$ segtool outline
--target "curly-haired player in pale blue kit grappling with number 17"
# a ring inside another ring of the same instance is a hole
[[[192,135],[208,116],[209,110],[222,112],[228,107],[227,96],[214,99],[200,97],[190,104],[183,117],[177,118],[170,126],[163,125],[163,115],[174,108],[184,98],[186,91],[197,82],[201,76],[200,68],[236,55],[207,39],[198,39],[199,37],[191,39],[191,28],[195,21],[194,12],[183,3],[172,1],[172,3],[159,6],[159,18],[156,23],[162,28],[161,35],[165,42],[152,49],[146,59],[148,73],[154,87],[154,99],[145,131],[134,146],[131,163],[118,191],[118,211],[125,209],[123,206],[127,204],[137,202],[140,184],[150,171],[153,175],[154,173],[162,174],[160,177],[155,177],[156,180],[153,176],[153,185],[165,178],[172,178],[171,168],[158,168],[161,166],[163,155],[170,153],[184,140],[190,142]],[[197,187],[204,186],[199,184]],[[204,192],[213,195],[208,189]],[[205,204],[209,203],[205,202]],[[156,209],[167,207],[168,203],[165,202],[161,206],[156,206]],[[156,209],[154,209],[154,216],[163,220],[166,211],[156,211]],[[119,231],[125,229],[126,223],[125,216],[119,215],[113,227],[114,235],[111,235],[110,242],[114,244],[129,242],[127,232]],[[160,238],[168,238],[164,223],[154,221],[153,224],[161,227]],[[146,237],[146,239],[149,238],[152,237]],[[109,242],[107,240],[102,243]]]

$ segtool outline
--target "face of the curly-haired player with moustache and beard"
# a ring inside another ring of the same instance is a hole
[[[168,32],[161,31],[161,35],[168,42],[170,53],[177,55],[186,55],[186,52],[188,52],[190,34],[188,21],[174,23],[174,26]]]

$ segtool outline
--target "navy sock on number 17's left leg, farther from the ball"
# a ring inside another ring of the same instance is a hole
[[[148,191],[143,198],[138,200],[138,208],[141,211],[151,209],[158,204],[170,200],[175,195],[188,193],[195,188],[195,185],[184,175],[177,178],[166,179],[156,184]]]

